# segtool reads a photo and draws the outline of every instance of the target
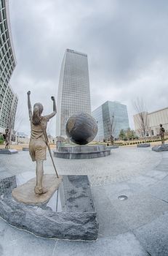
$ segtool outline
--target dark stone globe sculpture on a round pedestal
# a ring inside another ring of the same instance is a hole
[[[66,135],[73,143],[86,145],[97,135],[95,118],[87,113],[77,113],[71,116],[66,123]]]

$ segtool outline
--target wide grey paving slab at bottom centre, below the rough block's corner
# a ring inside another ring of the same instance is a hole
[[[100,238],[93,243],[57,241],[53,256],[149,256],[134,234],[124,233],[113,238]]]

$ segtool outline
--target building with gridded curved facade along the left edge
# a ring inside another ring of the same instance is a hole
[[[7,0],[0,0],[0,133],[9,127],[14,129],[17,95],[9,86],[16,66],[15,51],[9,22]]]

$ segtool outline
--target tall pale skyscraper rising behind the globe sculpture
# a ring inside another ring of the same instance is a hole
[[[87,54],[66,49],[57,94],[57,136],[65,136],[68,118],[79,112],[91,113]]]

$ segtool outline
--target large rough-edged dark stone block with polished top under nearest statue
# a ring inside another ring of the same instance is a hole
[[[23,173],[0,180],[1,218],[10,225],[44,238],[97,239],[97,213],[87,176],[63,176],[59,189],[49,202],[39,206],[13,200],[12,190],[25,176]]]

